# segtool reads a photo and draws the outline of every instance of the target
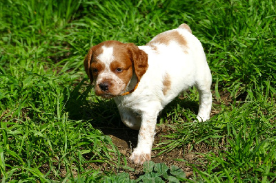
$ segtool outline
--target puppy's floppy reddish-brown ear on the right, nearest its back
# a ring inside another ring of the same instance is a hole
[[[143,50],[140,50],[139,47],[133,43],[128,43],[127,47],[128,55],[134,65],[135,74],[138,80],[140,80],[148,69],[148,54],[146,54]]]

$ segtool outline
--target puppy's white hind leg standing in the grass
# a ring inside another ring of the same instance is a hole
[[[210,86],[212,84],[212,76],[210,72],[206,74],[206,77],[197,80],[195,87],[199,92],[199,111],[197,119],[201,122],[210,118],[210,111],[212,107],[212,93]]]

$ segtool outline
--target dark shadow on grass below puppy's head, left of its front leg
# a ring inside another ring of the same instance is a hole
[[[95,96],[93,86],[81,80],[69,94],[65,92],[65,110],[72,120],[89,122],[92,127],[99,129],[103,134],[115,136],[127,142],[128,147],[137,144],[138,132],[121,122],[121,117],[114,100],[104,100]]]

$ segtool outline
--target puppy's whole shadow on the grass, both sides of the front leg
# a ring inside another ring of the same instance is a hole
[[[115,101],[103,100],[95,96],[92,86],[86,84],[85,81],[86,79],[81,80],[81,83],[70,91],[70,96],[66,99],[65,109],[69,118],[89,121],[95,129],[101,130],[103,134],[124,140],[128,147],[136,147],[139,131],[126,127],[121,122]],[[157,122],[160,119],[173,118],[175,115],[178,118],[185,118],[185,116],[177,114],[180,111],[179,108],[184,111],[189,109],[197,114],[198,103],[183,99],[181,96],[175,98],[163,109],[161,115],[157,118]]]

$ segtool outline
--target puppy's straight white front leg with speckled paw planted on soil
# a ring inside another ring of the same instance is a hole
[[[141,115],[142,122],[138,135],[138,144],[130,155],[130,160],[135,164],[143,164],[151,159],[152,143],[155,136],[157,114],[144,113]]]

